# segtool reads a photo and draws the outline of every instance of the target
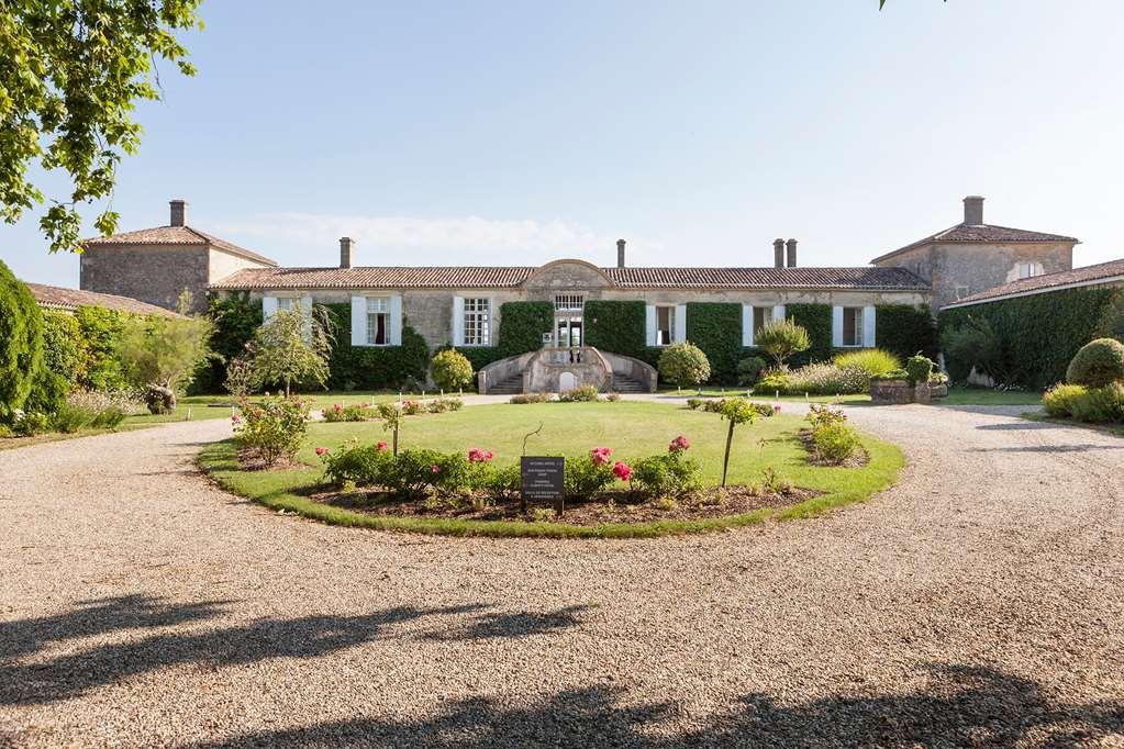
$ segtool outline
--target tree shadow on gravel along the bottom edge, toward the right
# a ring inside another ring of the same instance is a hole
[[[827,697],[781,705],[763,694],[743,697],[728,713],[668,733],[682,719],[673,702],[620,704],[622,688],[558,692],[529,707],[509,700],[470,698],[422,721],[325,722],[245,733],[196,747],[242,749],[314,747],[927,747],[1087,746],[1124,730],[1120,703],[1060,704],[1030,679],[989,668],[931,669],[923,692]]]

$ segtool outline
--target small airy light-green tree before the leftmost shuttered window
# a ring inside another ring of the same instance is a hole
[[[323,307],[310,316],[300,309],[279,310],[254,332],[254,384],[283,383],[288,395],[293,383],[328,380],[332,322]]]

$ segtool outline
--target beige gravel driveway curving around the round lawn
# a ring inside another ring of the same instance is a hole
[[[894,490],[654,541],[278,515],[221,420],[0,453],[0,745],[1124,746],[1124,439],[853,414]]]

